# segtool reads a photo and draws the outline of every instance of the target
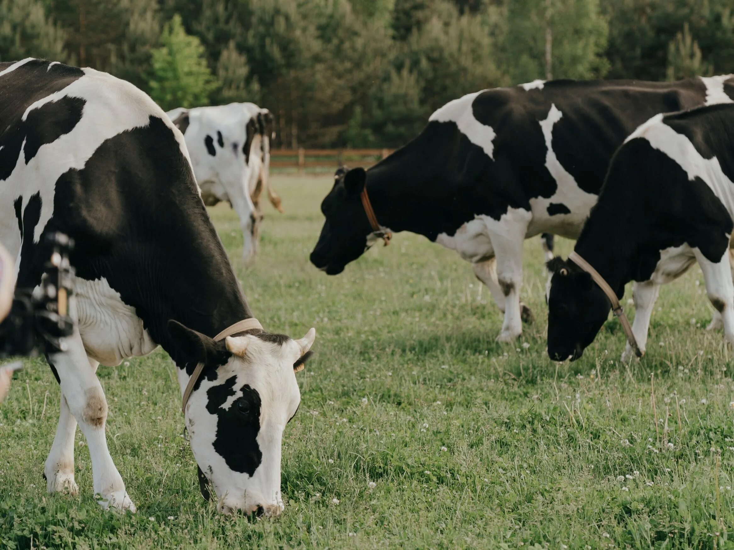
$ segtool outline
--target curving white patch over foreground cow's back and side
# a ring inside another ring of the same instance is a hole
[[[3,243],[9,246],[11,254],[18,254],[20,246],[18,224],[13,211],[15,197],[23,197],[21,210],[24,210],[29,197],[36,193],[40,194],[40,219],[33,232],[33,241],[37,243],[48,220],[54,214],[54,193],[58,178],[70,169],[83,169],[90,157],[107,139],[124,131],[148,125],[151,115],[159,117],[171,128],[181,147],[181,153],[189,160],[181,132],[174,128],[161,108],[153,103],[148,95],[129,82],[107,73],[90,68],[83,70],[84,76],[64,89],[37,100],[23,113],[25,120],[33,109],[67,96],[86,101],[81,120],[72,131],[59,136],[52,143],[43,144],[28,164],[19,161],[10,177],[3,182],[2,187],[7,190],[7,199],[0,203],[0,235]],[[5,235],[8,235],[10,245],[5,240]]]

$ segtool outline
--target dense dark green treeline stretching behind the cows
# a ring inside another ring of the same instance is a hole
[[[732,0],[0,0],[0,61],[125,78],[164,109],[254,101],[281,147],[395,147],[535,78],[734,73]]]

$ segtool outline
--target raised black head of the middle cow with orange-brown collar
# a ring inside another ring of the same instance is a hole
[[[363,168],[338,169],[334,187],[321,202],[326,221],[310,258],[329,275],[340,274],[376,241],[360,199],[366,179]]]

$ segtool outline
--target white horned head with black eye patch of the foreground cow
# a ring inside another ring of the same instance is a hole
[[[168,329],[189,367],[205,365],[184,411],[204,498],[211,486],[219,512],[279,515],[283,430],[301,400],[295,373],[316,330],[301,340],[260,333],[215,342],[175,321]],[[186,369],[178,379],[183,391]]]

